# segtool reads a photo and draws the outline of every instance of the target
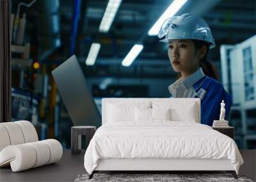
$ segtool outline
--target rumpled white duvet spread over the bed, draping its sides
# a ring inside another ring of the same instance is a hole
[[[84,155],[86,171],[92,174],[99,159],[106,158],[229,159],[237,174],[243,164],[233,139],[210,126],[179,121],[100,126]]]

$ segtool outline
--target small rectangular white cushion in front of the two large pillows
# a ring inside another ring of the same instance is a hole
[[[170,108],[168,109],[147,109],[135,108],[136,121],[170,120]]]

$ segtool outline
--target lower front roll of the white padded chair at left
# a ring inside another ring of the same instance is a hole
[[[60,142],[54,139],[7,146],[0,152],[0,167],[10,163],[13,172],[23,171],[56,162],[62,154]]]

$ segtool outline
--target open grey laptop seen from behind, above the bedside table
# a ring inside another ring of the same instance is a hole
[[[52,71],[74,126],[101,126],[101,116],[75,55]]]

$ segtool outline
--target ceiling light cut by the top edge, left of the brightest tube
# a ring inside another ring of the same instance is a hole
[[[107,8],[104,12],[103,18],[100,22],[99,31],[108,32],[109,28],[115,18],[116,11],[118,10],[122,0],[109,0]]]

